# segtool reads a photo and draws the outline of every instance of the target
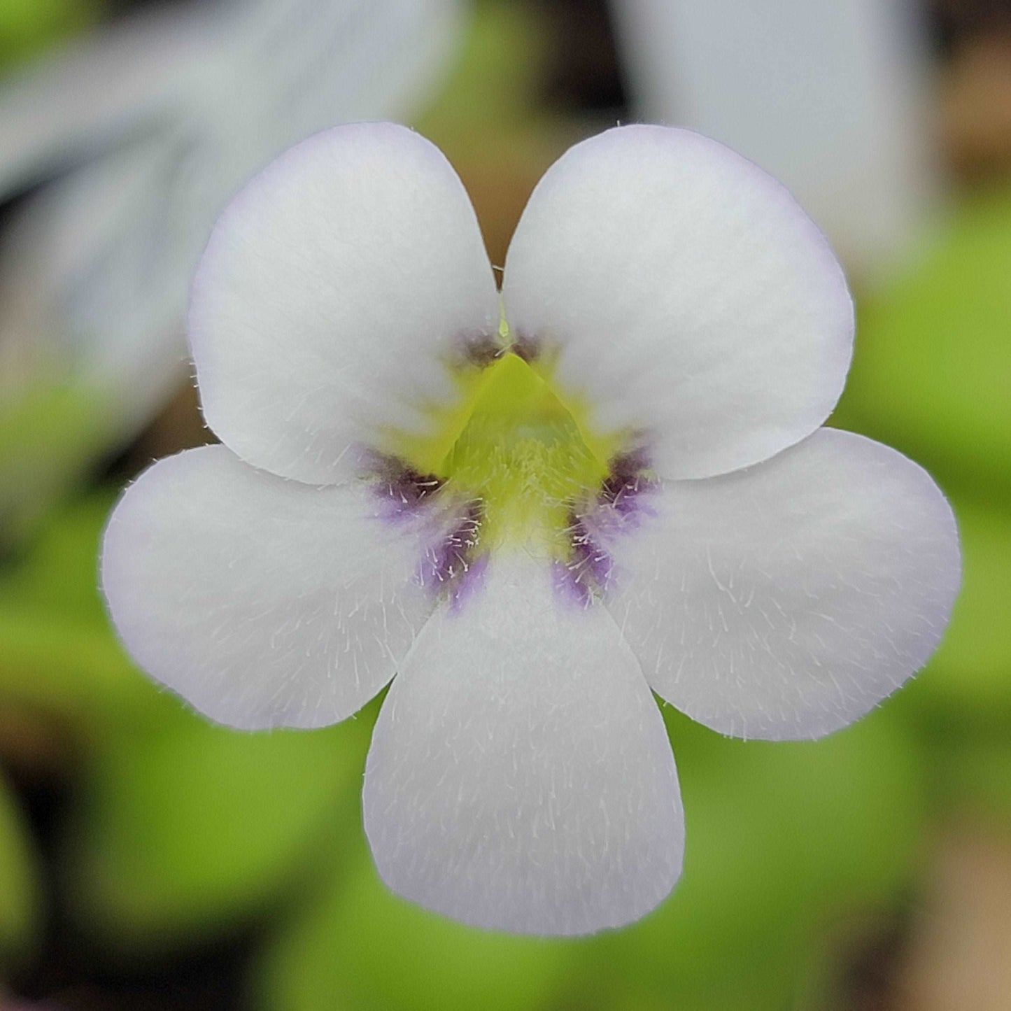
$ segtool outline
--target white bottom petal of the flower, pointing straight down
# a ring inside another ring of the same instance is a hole
[[[635,657],[546,565],[493,556],[433,616],[383,704],[365,829],[395,892],[482,927],[577,934],[680,872],[677,776]]]

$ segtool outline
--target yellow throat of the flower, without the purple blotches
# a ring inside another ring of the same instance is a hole
[[[507,353],[460,382],[459,406],[435,434],[407,440],[402,458],[480,499],[482,547],[522,540],[563,556],[572,511],[607,478],[618,437],[594,434],[585,406],[563,401],[540,362]]]

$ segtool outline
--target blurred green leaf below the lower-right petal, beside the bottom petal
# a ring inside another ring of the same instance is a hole
[[[684,798],[684,874],[654,914],[594,939],[593,992],[790,1007],[825,931],[895,902],[913,874],[923,816],[915,749],[881,712],[803,743],[725,740],[670,707],[665,716]]]

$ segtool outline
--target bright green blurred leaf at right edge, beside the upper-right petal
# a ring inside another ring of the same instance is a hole
[[[858,302],[835,420],[909,453],[945,488],[1011,489],[1011,190],[975,194],[897,283]]]

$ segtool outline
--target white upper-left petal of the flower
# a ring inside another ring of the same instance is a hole
[[[260,173],[218,220],[189,334],[208,425],[241,457],[315,483],[388,452],[459,396],[447,362],[498,328],[460,180],[391,123],[338,126]]]

